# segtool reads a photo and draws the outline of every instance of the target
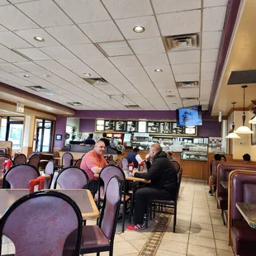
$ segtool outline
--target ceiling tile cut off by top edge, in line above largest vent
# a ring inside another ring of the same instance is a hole
[[[211,0],[210,0],[211,1]],[[153,0],[154,12],[180,12],[201,8],[201,0]]]

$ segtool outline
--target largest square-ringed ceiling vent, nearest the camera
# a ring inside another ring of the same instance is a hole
[[[199,34],[164,37],[164,45],[170,50],[193,50],[199,48]]]

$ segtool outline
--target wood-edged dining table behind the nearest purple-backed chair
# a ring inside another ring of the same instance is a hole
[[[82,213],[83,220],[93,220],[99,217],[99,211],[87,189],[44,189],[43,191],[61,192],[75,201]],[[0,218],[14,201],[29,194],[29,189],[0,189]]]

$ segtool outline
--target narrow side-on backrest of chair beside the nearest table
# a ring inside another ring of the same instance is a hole
[[[121,179],[113,176],[106,186],[99,227],[113,244],[121,204]]]

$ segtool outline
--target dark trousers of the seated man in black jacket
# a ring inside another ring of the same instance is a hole
[[[154,187],[143,187],[135,192],[134,223],[142,224],[149,200],[171,200],[173,196],[164,189]]]

